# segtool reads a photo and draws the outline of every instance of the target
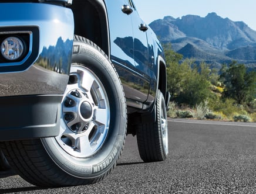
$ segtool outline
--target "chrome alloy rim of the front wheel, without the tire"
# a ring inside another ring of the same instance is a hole
[[[90,157],[103,146],[109,120],[109,99],[100,79],[88,68],[72,65],[55,137],[59,146],[73,157]]]

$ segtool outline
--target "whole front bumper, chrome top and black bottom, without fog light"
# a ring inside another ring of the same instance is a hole
[[[0,41],[25,33],[29,41],[20,61],[0,57],[0,141],[56,136],[69,79],[73,13],[39,3],[0,7]]]

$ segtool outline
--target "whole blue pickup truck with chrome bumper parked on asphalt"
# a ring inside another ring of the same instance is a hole
[[[127,134],[144,162],[166,159],[163,48],[132,0],[0,8],[2,168],[38,186],[95,183],[117,164]]]

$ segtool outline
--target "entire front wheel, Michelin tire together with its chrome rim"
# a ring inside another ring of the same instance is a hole
[[[99,47],[75,36],[59,135],[5,142],[5,154],[33,185],[95,183],[116,166],[126,127],[126,101],[116,70]]]

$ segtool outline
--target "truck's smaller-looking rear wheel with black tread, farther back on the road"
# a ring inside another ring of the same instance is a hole
[[[164,96],[160,90],[157,92],[156,105],[151,114],[154,120],[136,125],[137,144],[140,158],[144,162],[156,162],[166,160],[168,150],[167,113]]]

